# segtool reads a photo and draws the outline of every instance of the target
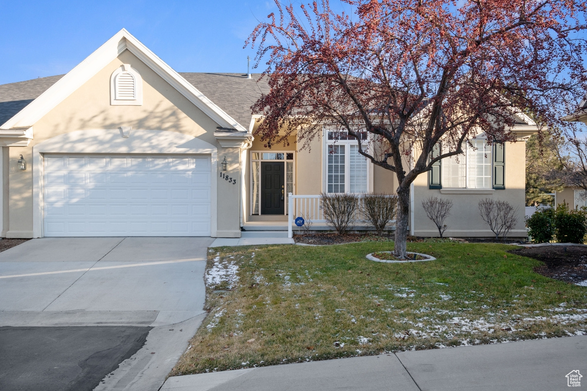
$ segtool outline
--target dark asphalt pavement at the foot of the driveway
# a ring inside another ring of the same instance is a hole
[[[0,390],[92,391],[151,327],[0,327]]]

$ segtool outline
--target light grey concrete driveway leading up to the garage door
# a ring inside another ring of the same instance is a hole
[[[123,362],[126,370],[119,368],[101,385],[156,390],[204,316],[203,276],[211,242],[194,237],[102,237],[20,244],[0,253],[0,327],[87,327],[90,333],[95,326],[108,326],[122,334],[128,334],[125,327],[147,328],[146,344],[131,358],[133,364]],[[176,324],[177,330],[169,326]],[[83,335],[72,343],[80,340]],[[135,340],[140,336],[129,338],[129,344],[136,345]],[[153,349],[157,354],[150,354]],[[126,358],[120,353],[116,357]],[[7,359],[0,358],[0,371]],[[107,373],[110,370],[112,365]],[[0,373],[0,389],[5,375]],[[39,381],[42,385],[42,378]]]

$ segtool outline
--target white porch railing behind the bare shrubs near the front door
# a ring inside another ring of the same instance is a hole
[[[359,196],[360,202],[361,196]],[[294,195],[288,193],[288,237],[294,237],[294,222],[296,217],[303,217],[304,220],[310,220],[313,225],[326,225],[326,219],[322,213],[320,195]],[[353,225],[367,221],[367,217],[357,208],[353,217]],[[395,223],[394,221],[390,223]]]

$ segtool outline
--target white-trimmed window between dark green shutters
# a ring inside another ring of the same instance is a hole
[[[471,140],[464,155],[442,159],[442,187],[491,189],[491,147],[485,140]]]

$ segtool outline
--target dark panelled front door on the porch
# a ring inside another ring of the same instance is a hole
[[[284,162],[261,162],[261,215],[285,213]]]

